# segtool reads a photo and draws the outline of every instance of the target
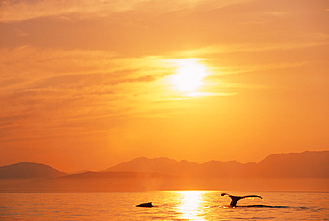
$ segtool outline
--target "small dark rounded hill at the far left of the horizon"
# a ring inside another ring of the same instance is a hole
[[[0,167],[0,180],[56,178],[64,175],[66,174],[50,166],[33,162],[20,162]]]

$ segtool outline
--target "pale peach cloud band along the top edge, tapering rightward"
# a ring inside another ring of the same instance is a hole
[[[170,12],[176,10],[193,9],[200,5],[223,7],[236,1],[209,1],[209,0],[34,0],[34,1],[7,1],[0,2],[0,22],[15,22],[49,16],[67,16],[69,14],[84,14],[90,16],[108,16],[115,12],[131,10],[144,10],[157,12]]]

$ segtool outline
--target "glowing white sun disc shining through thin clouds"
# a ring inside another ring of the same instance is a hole
[[[205,65],[198,59],[180,59],[177,62],[176,74],[171,76],[171,83],[182,93],[197,91],[208,75]]]

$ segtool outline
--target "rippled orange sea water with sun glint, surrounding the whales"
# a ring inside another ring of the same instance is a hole
[[[228,207],[229,197],[258,194]],[[153,202],[153,208],[135,205]],[[329,193],[0,193],[0,220],[329,220]]]

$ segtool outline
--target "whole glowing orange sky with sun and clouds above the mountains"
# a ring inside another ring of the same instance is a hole
[[[0,1],[0,166],[328,150],[329,2]]]

